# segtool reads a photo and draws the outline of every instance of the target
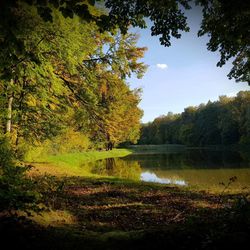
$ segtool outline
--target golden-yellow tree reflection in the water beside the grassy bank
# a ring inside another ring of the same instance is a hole
[[[98,175],[139,180],[142,170],[137,161],[127,162],[119,158],[107,158],[97,161],[91,172]]]

